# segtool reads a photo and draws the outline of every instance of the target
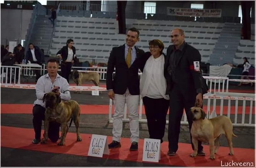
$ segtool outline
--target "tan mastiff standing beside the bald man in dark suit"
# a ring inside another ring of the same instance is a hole
[[[215,159],[214,154],[217,153],[220,146],[220,136],[225,134],[228,145],[229,155],[233,155],[232,136],[237,137],[233,133],[233,125],[231,120],[226,116],[217,116],[212,119],[205,118],[206,114],[200,107],[192,107],[190,111],[193,115],[193,124],[190,130],[194,152],[190,155],[196,157],[198,152],[198,140],[210,145],[210,159]],[[215,146],[215,150],[214,150]]]

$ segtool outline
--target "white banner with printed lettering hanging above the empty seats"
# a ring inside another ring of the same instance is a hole
[[[172,16],[193,16],[193,17],[221,17],[220,9],[190,9],[167,7],[167,15]]]

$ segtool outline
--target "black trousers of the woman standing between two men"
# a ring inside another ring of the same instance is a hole
[[[164,98],[143,97],[143,104],[147,117],[149,138],[160,139],[163,142],[166,114],[169,108],[169,100]]]

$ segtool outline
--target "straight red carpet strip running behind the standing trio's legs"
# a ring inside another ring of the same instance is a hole
[[[1,104],[2,114],[32,114],[33,105],[29,104]],[[81,114],[109,114],[109,105],[80,105]],[[207,107],[203,107],[204,111],[207,111]],[[212,106],[210,108],[212,111]],[[227,114],[228,106],[223,107],[223,114]],[[112,106],[112,113],[114,108]],[[216,113],[220,114],[220,106],[216,106]],[[142,108],[142,114],[145,114],[144,106]],[[230,107],[230,114],[235,114],[235,106]],[[242,114],[242,106],[238,106],[238,114]],[[250,114],[250,106],[245,107],[245,114]],[[253,114],[255,114],[255,108],[253,106]]]

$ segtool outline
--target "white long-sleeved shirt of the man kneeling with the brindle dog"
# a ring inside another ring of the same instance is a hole
[[[45,102],[43,103],[43,97],[44,94],[49,93],[52,91],[54,86],[60,87],[60,98],[62,100],[70,100],[71,95],[69,91],[69,84],[65,78],[57,74],[56,79],[54,82],[52,82],[51,78],[49,77],[49,74],[45,74],[44,76],[41,76],[36,83],[36,97],[37,100],[34,102],[34,105],[41,105],[45,108]]]

